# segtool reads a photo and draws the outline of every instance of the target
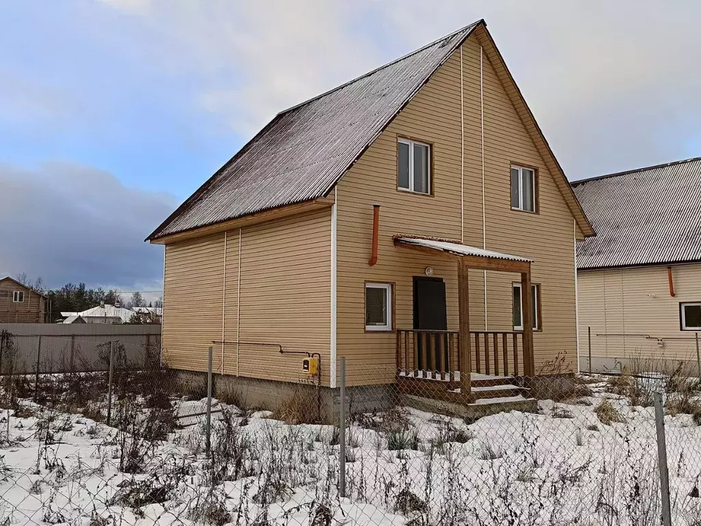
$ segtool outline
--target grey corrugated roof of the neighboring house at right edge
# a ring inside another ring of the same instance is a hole
[[[574,181],[597,236],[579,269],[701,261],[701,158]]]

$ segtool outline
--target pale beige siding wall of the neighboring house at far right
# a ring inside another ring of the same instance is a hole
[[[587,363],[588,328],[595,365],[636,357],[695,361],[694,332],[681,330],[679,304],[701,302],[701,264],[676,265],[672,277],[674,297],[667,267],[580,271],[581,363]]]

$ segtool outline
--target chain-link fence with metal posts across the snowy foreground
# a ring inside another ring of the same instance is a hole
[[[332,389],[313,374],[184,375],[110,351],[111,382],[109,367],[41,375],[38,386],[35,375],[3,377],[1,524],[652,526],[701,516],[701,386],[683,367],[461,378],[348,357]]]

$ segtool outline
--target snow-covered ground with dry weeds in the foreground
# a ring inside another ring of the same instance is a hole
[[[25,402],[33,414],[0,411],[0,524],[655,524],[653,407],[630,406],[604,382],[591,387],[576,403],[542,400],[538,413],[475,422],[409,407],[356,415],[345,499],[334,426],[217,401],[207,460],[202,400],[177,402],[191,425],[152,446],[134,424],[147,422],[145,410],[120,431]],[[604,398],[625,422],[601,424]],[[701,428],[689,414],[668,416],[666,428],[673,523],[697,524],[701,499],[689,495],[698,495]]]

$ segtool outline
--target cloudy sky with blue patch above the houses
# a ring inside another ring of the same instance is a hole
[[[484,18],[571,179],[701,155],[693,0],[0,0],[0,275],[161,288],[143,243],[271,117]]]

